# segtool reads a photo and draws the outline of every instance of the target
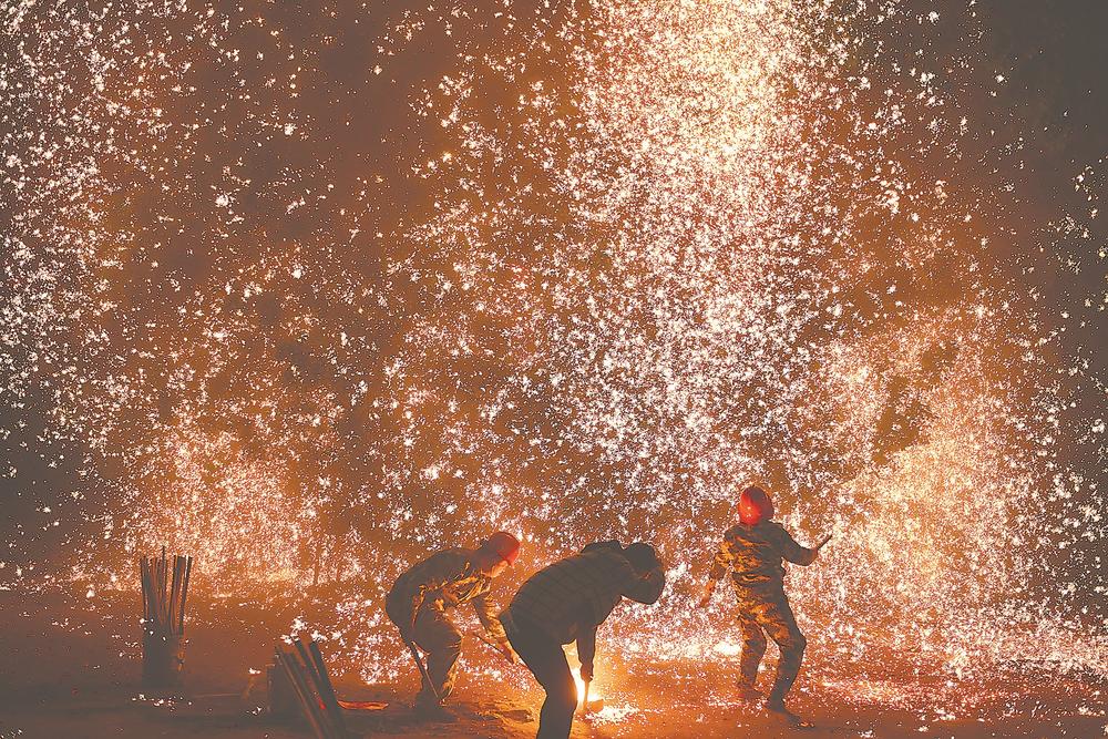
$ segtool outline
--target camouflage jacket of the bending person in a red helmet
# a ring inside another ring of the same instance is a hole
[[[443,550],[419,563],[397,578],[389,592],[389,610],[411,624],[420,608],[445,610],[470,603],[489,635],[506,644],[504,627],[489,602],[492,578],[478,571],[474,554],[475,550]]]

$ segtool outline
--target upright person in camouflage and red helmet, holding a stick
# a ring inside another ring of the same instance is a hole
[[[757,485],[750,485],[739,495],[738,512],[739,523],[724,533],[698,607],[708,605],[716,583],[730,569],[731,584],[739,599],[739,626],[742,628],[739,689],[748,700],[761,697],[755,688],[755,680],[758,665],[766,654],[768,634],[781,650],[781,659],[766,708],[790,723],[801,726],[804,722],[784,707],[784,697],[800,673],[808,640],[800,633],[784,595],[784,566],[781,561],[808,566],[815,561],[831,536],[813,548],[798,544],[781,524],[771,521],[773,503]]]

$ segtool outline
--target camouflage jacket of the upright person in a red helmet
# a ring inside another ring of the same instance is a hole
[[[767,587],[784,582],[783,561],[810,565],[817,550],[797,544],[776,521],[755,526],[736,524],[724,533],[724,541],[711,563],[708,579],[714,585],[728,569],[736,587]]]

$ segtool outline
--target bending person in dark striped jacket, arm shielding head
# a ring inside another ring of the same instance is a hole
[[[540,569],[500,615],[509,642],[546,690],[537,739],[566,739],[577,687],[562,645],[577,643],[581,678],[593,679],[596,628],[623,598],[653,604],[666,576],[654,547],[642,542],[589,544],[581,554]]]

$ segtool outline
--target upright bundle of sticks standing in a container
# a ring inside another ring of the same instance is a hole
[[[161,558],[142,557],[143,681],[150,687],[177,682],[184,663],[185,598],[193,558],[174,555],[173,569],[162,548]]]

